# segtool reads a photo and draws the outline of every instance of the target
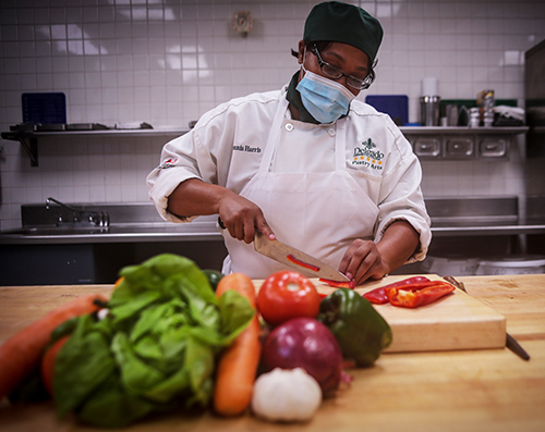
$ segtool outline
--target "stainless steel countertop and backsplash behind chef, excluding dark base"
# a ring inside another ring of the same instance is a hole
[[[545,199],[529,199],[521,208],[517,197],[426,199],[434,236],[545,234]],[[147,203],[72,205],[82,210],[107,211],[108,227],[74,226],[57,219],[70,217],[63,208],[24,205],[23,227],[0,232],[0,245],[96,244],[218,240],[217,217],[191,223],[165,222]]]

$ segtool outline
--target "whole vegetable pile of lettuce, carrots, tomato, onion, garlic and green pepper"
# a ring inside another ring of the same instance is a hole
[[[271,274],[256,295],[242,273],[159,255],[122,269],[109,300],[82,296],[4,343],[0,397],[29,400],[21,395],[46,388],[59,417],[108,428],[198,407],[307,421],[349,381],[347,361],[371,367],[391,343],[353,289],[323,297],[294,271]]]

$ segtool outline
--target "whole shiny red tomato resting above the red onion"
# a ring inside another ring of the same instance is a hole
[[[291,318],[316,318],[320,297],[314,284],[301,273],[284,270],[268,276],[257,294],[257,308],[270,325]]]

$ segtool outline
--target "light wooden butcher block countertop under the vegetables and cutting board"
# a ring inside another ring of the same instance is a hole
[[[399,280],[389,276],[382,284]],[[384,354],[373,368],[324,400],[310,423],[276,424],[247,414],[156,416],[128,431],[545,431],[545,274],[457,277],[468,295],[505,317],[502,331],[531,359],[507,348]],[[361,287],[364,289],[365,286]],[[36,318],[83,293],[109,295],[112,285],[0,287],[0,343]],[[457,294],[457,293],[455,293]],[[396,334],[396,331],[393,330]],[[58,420],[52,403],[0,402],[4,431],[92,431]]]

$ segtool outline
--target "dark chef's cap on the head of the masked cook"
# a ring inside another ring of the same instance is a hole
[[[362,8],[329,1],[313,8],[306,17],[303,39],[348,44],[360,48],[373,62],[383,40],[383,27]]]

